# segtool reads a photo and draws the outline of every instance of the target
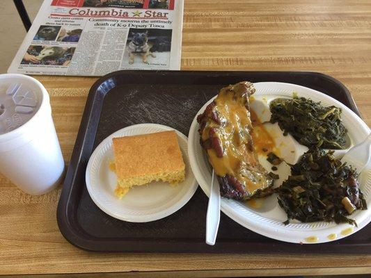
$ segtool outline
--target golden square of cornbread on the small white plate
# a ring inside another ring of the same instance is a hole
[[[151,181],[176,184],[184,181],[185,165],[175,131],[113,138],[118,184],[122,198],[132,186]]]

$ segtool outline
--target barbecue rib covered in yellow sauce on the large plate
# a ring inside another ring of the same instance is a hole
[[[273,180],[253,149],[248,97],[254,92],[247,81],[229,85],[197,117],[200,144],[223,197],[246,200],[271,194]]]

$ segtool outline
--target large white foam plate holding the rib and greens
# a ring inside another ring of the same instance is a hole
[[[292,97],[292,92],[297,92],[299,97],[307,97],[313,99],[314,101],[322,101],[324,106],[335,105],[342,108],[342,122],[345,124],[348,130],[349,147],[352,147],[358,142],[363,141],[370,133],[368,126],[353,111],[336,99],[333,99],[328,95],[324,95],[322,92],[289,83],[262,82],[255,83],[254,85],[256,88],[256,92],[254,94],[255,101],[253,101],[251,104],[251,108],[255,111],[255,113],[258,114],[258,117],[269,120],[269,99],[274,99],[276,97]],[[213,99],[210,99],[210,101],[208,101],[203,108],[198,111],[197,115],[203,113],[206,106],[210,104]],[[265,106],[267,109],[264,109],[263,106]],[[195,177],[203,191],[207,196],[209,196],[212,172],[207,161],[207,157],[205,156],[203,149],[200,147],[200,136],[198,135],[198,123],[196,117],[194,118],[194,121],[191,124],[191,129],[189,130],[188,154],[191,168],[195,174]],[[271,128],[275,129],[274,126],[271,126]],[[282,133],[279,127],[278,131]],[[281,136],[281,138],[282,137],[283,136]],[[299,158],[299,156],[306,150],[306,147],[299,145],[299,143],[291,136],[285,136],[283,140],[288,140],[284,145],[286,147],[292,147],[295,151],[295,157],[292,157],[291,159]],[[284,151],[284,149],[281,149],[281,154],[284,154],[285,152],[282,151]],[[341,155],[341,153],[342,152],[338,152],[339,155]],[[266,167],[268,172],[271,172],[271,165],[269,165],[265,159],[264,161],[260,159],[260,162]],[[280,165],[278,168],[280,180],[278,180],[278,182],[282,183],[283,176],[286,175],[287,177],[289,170],[290,168]],[[345,236],[349,236],[350,234],[362,229],[370,222],[370,169],[362,172],[360,183],[369,209],[367,211],[356,211],[353,215],[351,215],[351,218],[356,220],[358,228],[349,224],[336,224],[334,222],[301,223],[299,221],[292,221],[290,224],[285,225],[282,222],[287,220],[287,216],[283,209],[278,205],[276,195],[267,197],[263,203],[263,206],[260,208],[251,208],[250,206],[244,204],[244,202],[237,202],[233,199],[222,198],[221,211],[226,213],[226,215],[232,218],[232,220],[242,224],[242,226],[269,238],[275,238],[277,240],[283,240],[290,243],[324,243],[335,240],[333,238],[329,238],[331,234],[336,234],[336,239],[344,238]],[[354,229],[349,229],[351,227]],[[316,242],[308,242],[308,238],[311,237],[317,238]]]

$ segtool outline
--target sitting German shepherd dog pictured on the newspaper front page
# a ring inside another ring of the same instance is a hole
[[[148,44],[148,30],[145,32],[132,32],[132,40],[127,46],[127,51],[129,51],[129,64],[134,63],[134,56],[140,55],[142,61],[145,64],[148,64],[148,56],[156,58],[155,54],[150,52],[150,46]]]

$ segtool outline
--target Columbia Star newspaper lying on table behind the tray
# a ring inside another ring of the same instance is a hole
[[[180,70],[184,0],[45,0],[9,73]]]

